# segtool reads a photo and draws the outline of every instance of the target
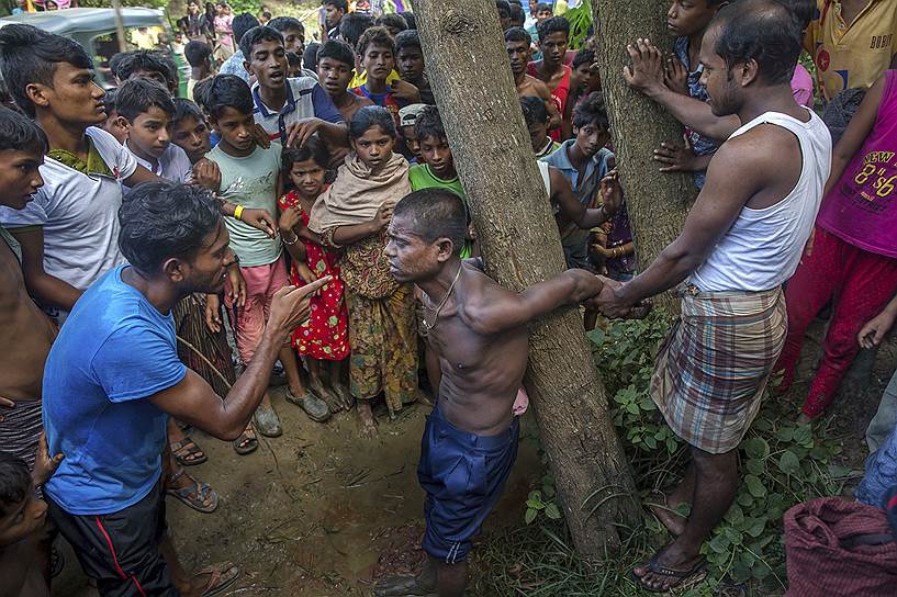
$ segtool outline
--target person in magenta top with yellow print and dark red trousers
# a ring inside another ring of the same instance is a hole
[[[804,333],[831,300],[825,354],[803,419],[822,414],[859,350],[856,335],[897,290],[897,70],[868,90],[832,155],[826,198],[804,259],[788,282],[788,336],[776,370],[785,392]]]

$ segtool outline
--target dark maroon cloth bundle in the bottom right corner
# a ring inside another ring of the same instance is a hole
[[[787,597],[893,597],[897,542],[882,508],[822,497],[785,512]]]

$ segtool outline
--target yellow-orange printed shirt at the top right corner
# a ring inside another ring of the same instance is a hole
[[[841,16],[841,0],[817,0],[817,8],[804,48],[826,101],[844,89],[871,87],[897,54],[897,1],[870,0],[852,23]]]

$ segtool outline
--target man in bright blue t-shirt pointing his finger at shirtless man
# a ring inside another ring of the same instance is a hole
[[[171,315],[191,293],[221,292],[235,262],[218,205],[208,191],[150,182],[132,190],[120,219],[131,264],[79,298],[47,357],[44,427],[51,453],[66,460],[44,494],[101,595],[217,593],[239,568],[226,563],[191,578],[166,537],[166,421],[236,439],[278,351],[307,318],[307,296],[329,279],[274,296],[256,358],[222,399],[178,360]]]

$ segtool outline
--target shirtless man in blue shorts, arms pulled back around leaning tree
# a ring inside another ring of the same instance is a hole
[[[417,577],[379,584],[381,597],[463,595],[471,540],[501,497],[517,455],[512,406],[526,371],[527,325],[603,291],[585,270],[568,270],[522,293],[503,289],[461,261],[466,232],[461,200],[435,188],[400,201],[386,230],[392,275],[424,293],[422,325],[439,375],[430,380],[437,405],[427,418],[417,469],[427,493],[429,559]]]

